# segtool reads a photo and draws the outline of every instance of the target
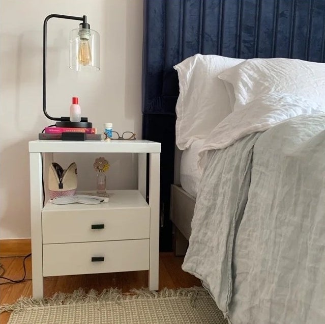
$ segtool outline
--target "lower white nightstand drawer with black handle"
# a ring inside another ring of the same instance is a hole
[[[149,269],[149,239],[43,245],[43,276]]]

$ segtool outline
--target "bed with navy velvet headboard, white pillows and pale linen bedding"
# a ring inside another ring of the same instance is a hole
[[[233,324],[325,322],[324,13],[322,1],[145,2],[143,136],[166,166],[175,140],[182,157],[203,140],[196,198],[162,168],[162,220],[171,187],[183,269]]]

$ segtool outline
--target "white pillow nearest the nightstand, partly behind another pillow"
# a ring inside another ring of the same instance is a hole
[[[184,150],[231,113],[228,93],[218,75],[244,60],[196,54],[174,66],[180,95],[176,104],[176,145]],[[234,101],[234,99],[233,99]]]

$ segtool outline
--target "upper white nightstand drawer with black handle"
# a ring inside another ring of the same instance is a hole
[[[150,208],[42,213],[43,244],[149,238]]]

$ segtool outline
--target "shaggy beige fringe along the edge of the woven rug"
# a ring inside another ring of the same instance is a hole
[[[168,289],[163,288],[160,291],[150,291],[147,288],[131,289],[131,292],[122,293],[120,289],[108,288],[101,292],[91,289],[87,293],[84,289],[79,288],[72,293],[57,292],[52,297],[44,299],[33,299],[20,297],[14,304],[0,305],[0,313],[12,312],[29,307],[68,305],[68,304],[85,304],[98,302],[119,302],[128,299],[158,299],[172,297],[190,297],[191,303],[194,304],[198,296],[209,295],[202,287]]]

